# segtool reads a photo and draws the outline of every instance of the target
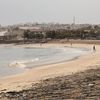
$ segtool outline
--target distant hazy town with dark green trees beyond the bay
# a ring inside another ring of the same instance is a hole
[[[26,23],[0,26],[0,43],[33,41],[47,42],[51,39],[100,39],[100,25]]]

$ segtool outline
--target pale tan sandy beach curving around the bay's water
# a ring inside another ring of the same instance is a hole
[[[40,47],[40,44],[18,45],[20,47]],[[64,47],[70,44],[43,44],[42,47]],[[32,83],[39,82],[40,80],[53,78],[56,76],[71,75],[76,72],[85,71],[87,69],[96,69],[100,65],[100,46],[96,46],[96,52],[92,52],[93,44],[73,44],[76,48],[89,48],[91,51],[79,57],[78,59],[68,62],[51,64],[33,68],[24,73],[5,77],[0,80],[0,92],[6,91],[19,91],[31,87]]]

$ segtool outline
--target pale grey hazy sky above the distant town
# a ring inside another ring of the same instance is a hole
[[[0,0],[0,24],[100,23],[100,0]]]

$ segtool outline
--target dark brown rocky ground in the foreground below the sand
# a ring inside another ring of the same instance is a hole
[[[100,69],[49,78],[19,92],[0,94],[1,100],[100,100]]]

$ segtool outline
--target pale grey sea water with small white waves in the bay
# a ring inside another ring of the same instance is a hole
[[[0,78],[22,73],[34,67],[59,63],[84,55],[84,48],[0,47]]]

